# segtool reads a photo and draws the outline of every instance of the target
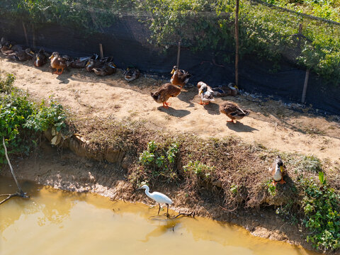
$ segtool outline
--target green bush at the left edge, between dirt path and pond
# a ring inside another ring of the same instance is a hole
[[[0,84],[7,84],[7,92],[0,94],[0,137],[5,137],[8,153],[28,154],[36,145],[40,132],[48,128],[56,128],[57,131],[65,128],[66,115],[60,104],[51,100],[50,106],[42,102],[40,106],[29,101],[27,95],[17,91],[11,91],[14,81],[13,76],[0,80]],[[0,163],[4,163],[4,148],[0,149]]]

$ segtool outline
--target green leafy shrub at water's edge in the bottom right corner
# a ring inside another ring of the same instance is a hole
[[[340,196],[327,186],[324,174],[319,173],[321,185],[312,179],[302,179],[305,196],[302,199],[303,224],[310,229],[307,242],[314,248],[335,250],[340,248]]]

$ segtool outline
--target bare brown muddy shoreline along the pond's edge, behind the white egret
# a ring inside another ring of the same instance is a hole
[[[35,181],[66,191],[97,193],[113,200],[154,205],[144,193],[135,191],[132,183],[126,179],[126,172],[121,164],[79,157],[70,149],[58,150],[51,147],[47,140],[42,141],[40,149],[30,157],[12,160],[20,180]],[[1,175],[11,176],[8,166],[1,167]],[[273,207],[226,212],[213,199],[188,201],[185,193],[179,188],[170,190],[164,186],[162,192],[174,200],[171,209],[177,212],[194,211],[202,217],[240,225],[257,237],[288,242],[313,250],[305,241],[302,230],[297,225],[283,222]]]

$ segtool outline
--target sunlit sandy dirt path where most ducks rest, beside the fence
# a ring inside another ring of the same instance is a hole
[[[77,115],[147,120],[150,127],[193,132],[202,137],[234,135],[268,148],[315,154],[336,164],[340,162],[339,116],[293,111],[282,102],[261,101],[249,95],[215,98],[214,103],[201,106],[195,86],[170,98],[171,107],[165,109],[150,96],[150,91],[165,80],[143,76],[128,83],[122,72],[96,77],[83,69],[69,69],[58,76],[52,74],[49,64],[38,69],[31,62],[11,62],[0,57],[0,74],[4,77],[7,73],[15,74],[18,88],[38,98],[53,95]],[[251,114],[236,124],[227,123],[227,116],[218,111],[225,100],[238,103]]]

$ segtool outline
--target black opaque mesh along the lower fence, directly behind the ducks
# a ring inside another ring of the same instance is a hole
[[[102,43],[104,55],[113,56],[118,67],[133,66],[142,72],[164,77],[170,76],[169,72],[176,64],[178,37],[174,36],[166,46],[150,43],[149,23],[141,22],[140,17],[115,16],[111,25],[91,33],[84,33],[85,28],[72,23],[61,25],[46,21],[38,26],[32,26],[27,20],[24,23],[28,44],[30,47],[34,44],[35,49],[44,47],[47,52],[58,51],[72,57],[82,57],[98,53],[98,44]],[[0,17],[0,35],[26,44],[23,21],[18,18]],[[223,50],[207,50],[208,47],[192,50],[190,43],[183,40],[180,67],[193,74],[190,81],[193,84],[205,81],[212,87],[227,85],[234,81],[233,46],[227,45]],[[261,59],[256,54],[242,55],[239,62],[240,87],[251,94],[273,95],[285,101],[300,102],[306,70],[291,61],[296,57],[296,50],[285,51],[283,55],[285,57],[277,63],[280,68],[275,71],[270,60]],[[339,113],[340,89],[337,83],[311,72],[306,104],[328,113]]]

